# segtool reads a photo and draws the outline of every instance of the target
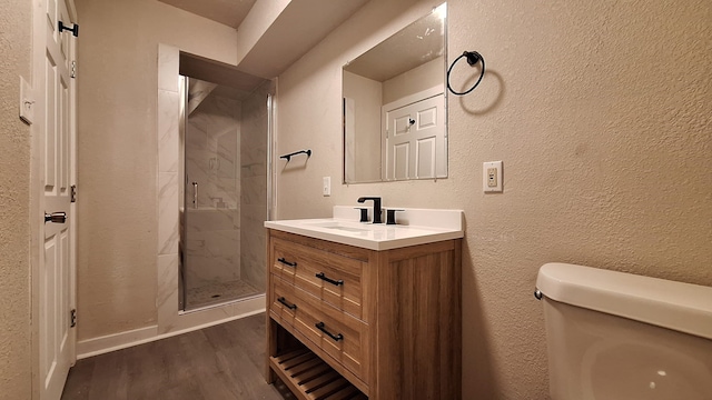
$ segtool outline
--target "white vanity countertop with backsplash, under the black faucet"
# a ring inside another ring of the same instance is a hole
[[[397,249],[464,236],[462,210],[399,210],[403,211],[396,213],[398,224],[358,222],[357,210],[336,206],[334,218],[265,221],[265,227],[370,250]]]

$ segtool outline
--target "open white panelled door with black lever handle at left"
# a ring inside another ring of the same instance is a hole
[[[59,399],[76,360],[72,309],[76,300],[76,221],[71,186],[76,181],[76,112],[71,61],[76,39],[59,32],[59,21],[76,21],[71,0],[34,0],[33,86],[37,99],[33,133],[39,181],[39,260],[33,307],[38,313],[36,386],[40,399]],[[69,7],[68,7],[69,6]]]

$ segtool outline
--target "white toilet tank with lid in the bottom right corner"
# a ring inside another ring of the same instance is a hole
[[[712,400],[712,288],[542,266],[553,400]]]

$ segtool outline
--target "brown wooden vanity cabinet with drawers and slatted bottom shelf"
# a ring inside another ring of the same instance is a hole
[[[300,399],[461,398],[462,239],[375,251],[267,231],[269,382]]]

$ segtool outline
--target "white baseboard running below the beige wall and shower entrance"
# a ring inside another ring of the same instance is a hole
[[[264,299],[264,296],[261,297],[261,299]],[[209,321],[207,323],[201,323],[195,327],[189,327],[186,329],[171,331],[162,334],[158,334],[158,326],[150,326],[146,328],[138,328],[138,329],[132,329],[132,330],[123,331],[119,333],[81,340],[77,342],[77,360],[108,353],[116,350],[130,348],[138,344],[148,343],[155,340],[170,338],[176,334],[191,332],[202,328],[208,328],[216,324],[229,322],[236,319],[250,317],[260,312],[265,312],[265,308],[244,312],[238,316],[226,317],[219,320]]]

